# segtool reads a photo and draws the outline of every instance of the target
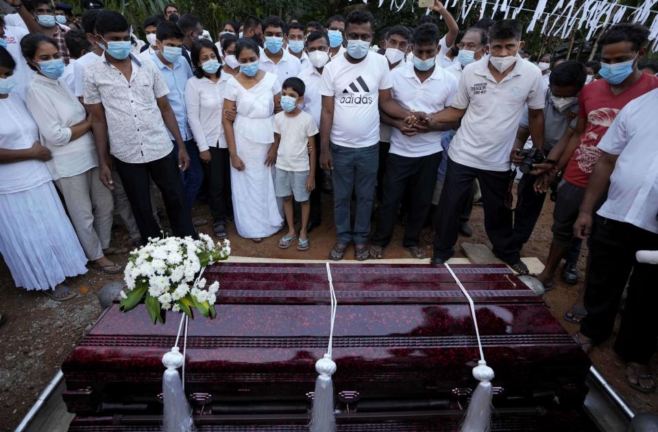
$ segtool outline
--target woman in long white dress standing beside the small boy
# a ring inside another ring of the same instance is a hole
[[[226,83],[224,110],[236,109],[236,119],[223,117],[231,155],[233,209],[238,234],[258,243],[283,224],[272,178],[276,149],[271,151],[281,86],[276,75],[258,69],[259,50],[251,40],[238,40],[235,56],[240,73]]]

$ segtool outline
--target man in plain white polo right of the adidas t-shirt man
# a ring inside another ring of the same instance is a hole
[[[402,107],[434,113],[452,103],[457,80],[436,64],[439,38],[436,25],[417,27],[413,32],[413,64],[391,72],[393,99]],[[370,256],[382,258],[383,249],[393,237],[398,206],[404,191],[409,189],[413,191],[413,199],[409,202],[409,218],[402,244],[414,258],[424,259],[425,252],[418,245],[419,235],[432,202],[432,179],[441,162],[441,132],[409,130],[404,121],[391,119],[385,113],[382,114],[382,121],[393,126],[393,130],[382,182],[384,200],[379,207]]]

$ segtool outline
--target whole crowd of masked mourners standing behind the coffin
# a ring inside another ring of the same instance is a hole
[[[546,290],[557,277],[576,285],[586,239],[585,280],[565,319],[589,352],[613,333],[626,290],[615,350],[629,384],[655,390],[658,266],[635,260],[658,249],[646,27],[612,25],[600,61],[583,64],[524,53],[513,19],[461,31],[439,1],[415,28],[374,32],[365,10],[305,25],[248,16],[224,23],[216,43],[175,5],[145,19],[143,41],[99,0],[79,19],[64,3],[8,3],[0,252],[16,287],[61,301],[75,296],[66,278],[87,267],[122,272],[111,258],[127,251],[110,245],[115,211],[131,248],[211,223],[217,239],[235,224],[244,239],[281,231],[280,248],[308,250],[323,190],[332,260],[350,243],[356,260],[381,259],[403,221],[404,248],[424,259],[431,243],[441,265],[460,233],[472,235],[481,203],[493,253],[523,275],[520,253],[548,194],[553,237],[537,279]],[[193,218],[206,203],[212,221]]]

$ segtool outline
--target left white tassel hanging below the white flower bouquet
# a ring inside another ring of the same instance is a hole
[[[178,337],[182,328],[183,320],[178,326]],[[192,409],[187,402],[183,384],[178,375],[178,368],[185,364],[185,356],[178,348],[178,337],[176,346],[162,356],[162,364],[167,367],[162,375],[162,432],[193,432],[196,430],[192,420]]]

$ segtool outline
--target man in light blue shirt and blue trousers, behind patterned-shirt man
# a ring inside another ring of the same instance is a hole
[[[183,49],[183,32],[178,25],[171,21],[164,21],[158,24],[156,28],[156,46],[158,51],[151,57],[156,64],[164,82],[169,87],[169,105],[178,122],[178,128],[183,142],[190,155],[190,166],[186,171],[180,173],[185,189],[188,208],[194,208],[194,202],[197,199],[197,193],[204,180],[204,171],[199,159],[199,149],[192,137],[192,130],[187,124],[187,110],[185,107],[185,85],[187,80],[192,77],[192,69],[182,56]],[[173,136],[169,136],[173,140]],[[174,151],[178,156],[178,147],[174,146]],[[195,221],[195,225],[196,225]]]

